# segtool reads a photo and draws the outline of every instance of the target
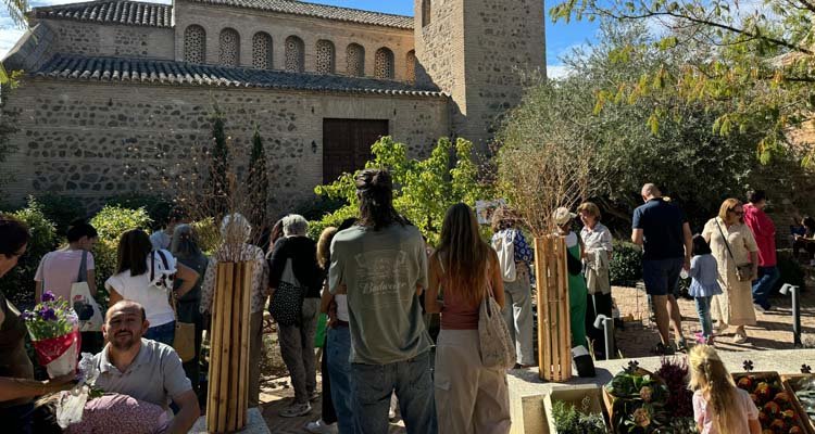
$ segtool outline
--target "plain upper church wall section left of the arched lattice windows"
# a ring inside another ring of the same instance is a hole
[[[40,20],[54,34],[54,52],[172,60],[172,28]]]

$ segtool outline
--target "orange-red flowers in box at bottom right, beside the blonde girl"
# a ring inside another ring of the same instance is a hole
[[[758,408],[758,421],[763,433],[804,434],[791,392],[785,388],[778,372],[741,372],[732,374],[736,385],[747,391]]]

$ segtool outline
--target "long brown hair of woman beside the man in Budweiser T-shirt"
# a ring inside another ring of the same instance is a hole
[[[478,304],[487,284],[489,246],[478,233],[478,220],[466,204],[455,204],[447,210],[441,227],[439,248],[432,260],[439,260],[444,268],[447,292],[454,292],[464,302]]]

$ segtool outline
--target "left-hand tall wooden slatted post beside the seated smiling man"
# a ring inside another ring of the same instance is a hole
[[[247,423],[251,273],[251,263],[217,265],[206,394],[211,433],[239,431]]]

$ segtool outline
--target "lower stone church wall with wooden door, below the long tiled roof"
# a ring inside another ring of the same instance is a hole
[[[193,158],[202,161],[213,101],[226,114],[236,162],[247,161],[259,125],[275,213],[312,197],[321,183],[323,118],[388,119],[390,133],[414,156],[449,133],[444,98],[33,79],[7,106],[17,112],[20,130],[11,139],[17,152],[0,167],[14,177],[3,193],[20,202],[53,191],[93,207],[106,196],[172,191],[161,174],[178,179]]]

